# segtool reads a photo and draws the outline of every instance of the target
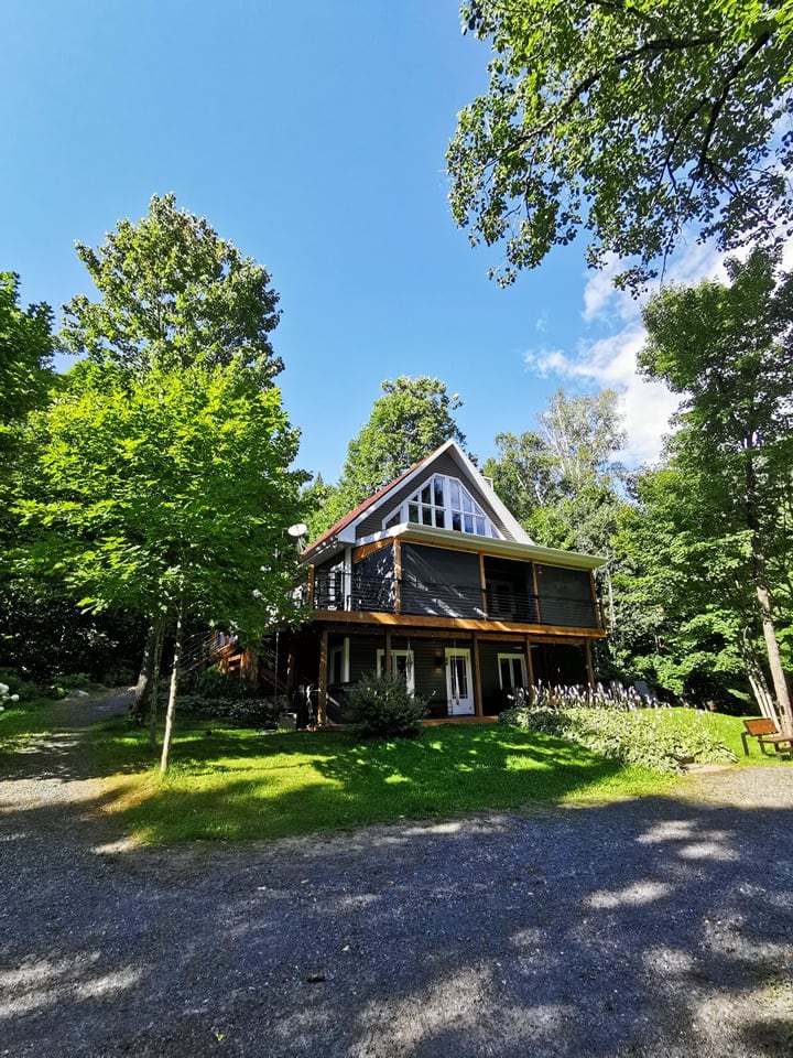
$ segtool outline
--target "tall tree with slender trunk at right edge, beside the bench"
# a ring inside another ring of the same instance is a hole
[[[674,465],[708,497],[703,539],[724,541],[734,579],[753,596],[782,722],[793,733],[769,568],[787,550],[780,500],[793,465],[793,274],[778,267],[778,253],[757,250],[727,262],[728,284],[663,290],[644,310],[639,363],[683,397]]]

